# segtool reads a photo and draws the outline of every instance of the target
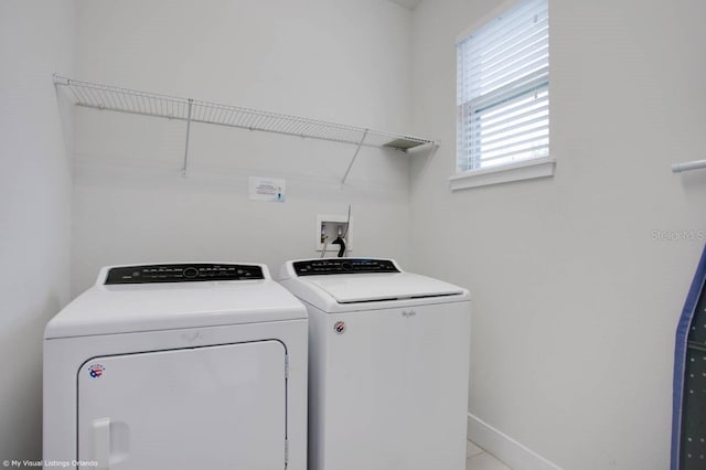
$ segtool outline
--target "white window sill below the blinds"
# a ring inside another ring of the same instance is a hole
[[[545,157],[454,174],[449,178],[449,182],[451,191],[466,190],[469,188],[510,183],[512,181],[553,177],[555,167],[556,160]]]

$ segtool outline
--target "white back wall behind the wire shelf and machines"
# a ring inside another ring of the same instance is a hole
[[[410,119],[410,12],[381,0],[78,2],[77,77],[391,131]],[[352,204],[354,255],[409,257],[408,159],[365,149],[77,110],[73,293],[99,266],[315,256],[317,214]],[[284,204],[247,178],[287,180]],[[334,252],[332,252],[333,254]]]

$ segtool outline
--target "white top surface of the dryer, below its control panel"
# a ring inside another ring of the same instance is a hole
[[[98,282],[57,313],[44,338],[87,337],[307,318],[304,307],[264,279],[104,285]],[[105,271],[105,269],[104,269]],[[105,276],[99,276],[99,280]]]

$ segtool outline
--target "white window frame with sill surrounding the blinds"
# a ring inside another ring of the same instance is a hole
[[[470,35],[477,33],[481,28],[485,26],[490,22],[496,20],[499,17],[502,17],[506,11],[516,7],[524,0],[507,0],[500,4],[498,8],[490,11],[488,14],[480,18],[478,21],[473,22],[469,28],[463,30],[457,38],[454,43],[456,57],[458,64],[458,45],[466,41]],[[547,6],[550,10],[550,0],[547,0]],[[549,21],[550,21],[550,11],[549,11]],[[549,38],[550,40],[550,38]],[[550,44],[549,44],[550,47]],[[550,65],[550,64],[549,64]],[[536,81],[532,81],[536,82]],[[550,83],[550,66],[546,75],[546,87],[547,92],[549,92],[549,83]],[[541,85],[539,83],[535,83],[534,85]],[[459,75],[457,71],[457,87],[459,86]],[[458,93],[458,92],[457,92]],[[490,93],[481,95],[479,98],[474,98],[475,100],[485,100],[488,97],[496,93],[496,90],[492,90]],[[550,103],[550,102],[549,102]],[[450,189],[452,191],[462,190],[468,188],[483,186],[489,184],[500,184],[506,183],[511,181],[520,181],[520,180],[528,180],[528,179],[537,179],[537,178],[546,178],[553,177],[556,169],[556,159],[550,156],[550,148],[547,148],[547,154],[528,158],[523,160],[513,161],[504,164],[490,165],[485,168],[477,168],[461,171],[460,169],[460,158],[459,158],[459,146],[460,146],[460,136],[458,135],[461,116],[459,109],[462,109],[464,106],[468,106],[469,102],[464,104],[458,104],[458,96],[456,99],[456,125],[457,125],[457,138],[456,138],[456,148],[454,148],[454,168],[456,173],[449,177]],[[549,113],[550,116],[550,113]],[[550,127],[550,121],[549,121]],[[550,136],[550,130],[549,130]],[[550,140],[549,140],[550,145]]]

